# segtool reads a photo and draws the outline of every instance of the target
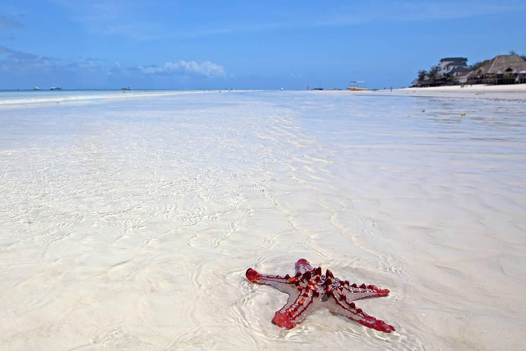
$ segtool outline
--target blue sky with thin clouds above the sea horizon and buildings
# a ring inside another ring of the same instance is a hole
[[[408,86],[526,54],[526,1],[2,0],[0,89]]]

